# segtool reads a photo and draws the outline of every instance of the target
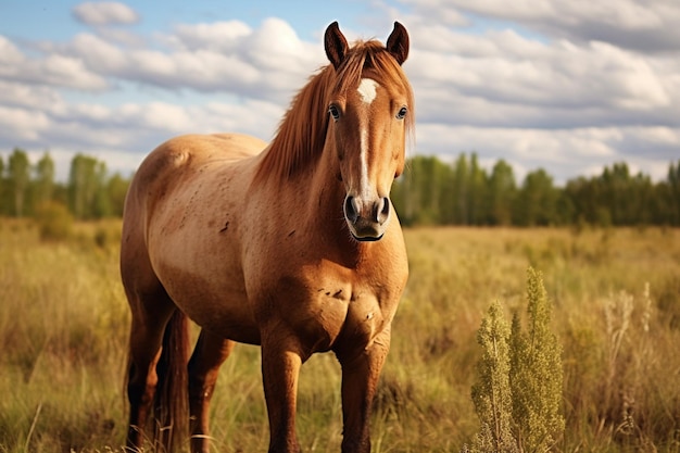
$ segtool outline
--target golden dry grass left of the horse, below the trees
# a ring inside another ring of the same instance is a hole
[[[1,221],[0,451],[88,448],[123,416],[127,313],[114,244],[89,235]]]

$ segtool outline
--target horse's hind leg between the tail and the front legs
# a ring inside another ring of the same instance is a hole
[[[207,453],[209,407],[219,367],[234,349],[234,341],[201,330],[189,361],[189,414],[191,453]]]

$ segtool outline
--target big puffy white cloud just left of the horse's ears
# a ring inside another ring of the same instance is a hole
[[[278,18],[265,20],[257,29],[237,21],[178,25],[175,35],[159,36],[158,40],[171,49],[128,48],[101,35],[83,33],[64,45],[45,46],[43,51],[48,58],[83,62],[85,67],[74,67],[74,74],[87,70],[110,84],[232,92],[279,102],[287,101],[325,60],[318,45],[302,41]]]

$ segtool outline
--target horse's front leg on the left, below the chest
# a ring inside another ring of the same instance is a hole
[[[290,338],[262,334],[262,379],[269,416],[269,453],[300,452],[295,405],[302,357],[298,343]]]

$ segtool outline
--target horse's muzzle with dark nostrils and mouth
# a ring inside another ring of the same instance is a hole
[[[367,201],[348,196],[344,199],[344,218],[354,239],[377,241],[382,238],[390,219],[390,204],[387,197]]]

